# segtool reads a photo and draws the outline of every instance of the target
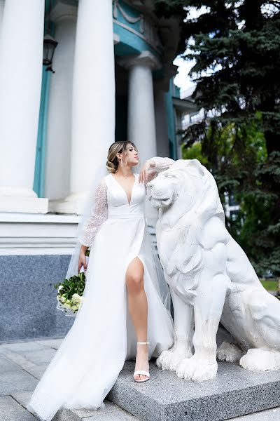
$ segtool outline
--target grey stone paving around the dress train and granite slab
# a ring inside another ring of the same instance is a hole
[[[26,409],[45,368],[62,339],[32,340],[0,345],[0,421],[36,421]],[[119,406],[105,401],[106,410],[59,411],[53,421],[137,421]],[[280,408],[230,421],[280,421]]]

